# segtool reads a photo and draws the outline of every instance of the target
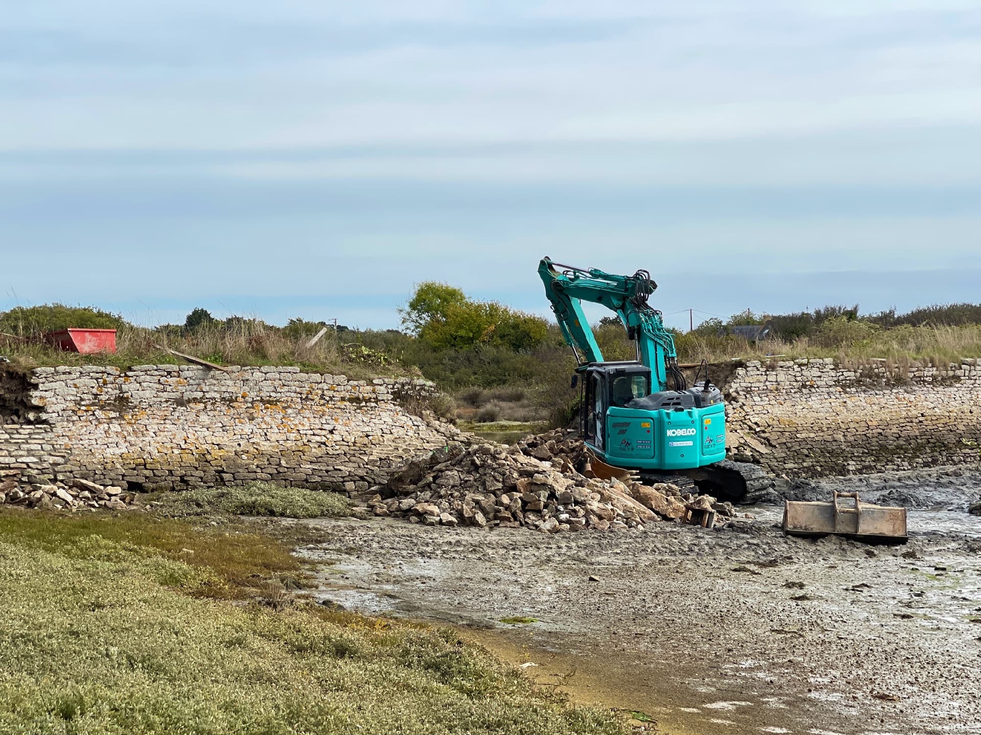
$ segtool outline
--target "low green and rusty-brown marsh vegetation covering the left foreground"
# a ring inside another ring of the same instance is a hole
[[[0,509],[0,732],[621,732],[449,630],[274,604],[250,527]]]

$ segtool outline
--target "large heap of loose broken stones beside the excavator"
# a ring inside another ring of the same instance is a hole
[[[416,523],[547,532],[643,529],[693,513],[736,515],[728,503],[683,494],[670,483],[588,477],[576,469],[581,443],[566,436],[549,432],[511,447],[452,444],[410,462],[365,501],[375,515]]]

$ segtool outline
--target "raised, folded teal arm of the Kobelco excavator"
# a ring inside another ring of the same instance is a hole
[[[558,270],[561,269],[561,270]],[[615,275],[598,269],[581,269],[543,258],[539,275],[545,295],[566,342],[580,365],[603,362],[593,330],[583,314],[583,301],[601,304],[613,311],[637,342],[638,361],[650,368],[655,390],[666,390],[670,375],[674,388],[684,388],[677,368],[674,339],[664,328],[661,314],[647,304],[657,284],[646,270],[633,275]]]

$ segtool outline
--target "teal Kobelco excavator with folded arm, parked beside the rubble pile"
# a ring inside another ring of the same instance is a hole
[[[709,380],[705,361],[688,386],[674,339],[661,313],[647,304],[657,288],[648,271],[614,275],[544,258],[539,275],[579,364],[573,384],[582,384],[580,431],[599,460],[640,470],[645,480],[682,473],[702,492],[726,500],[753,500],[772,485],[760,467],[726,460],[722,392]],[[635,343],[636,360],[603,360],[583,301],[620,318]]]

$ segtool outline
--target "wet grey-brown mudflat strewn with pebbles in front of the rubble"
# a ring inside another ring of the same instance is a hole
[[[899,547],[785,538],[770,507],[709,531],[304,521],[300,553],[319,599],[460,625],[657,732],[981,733],[981,517],[940,484]]]

